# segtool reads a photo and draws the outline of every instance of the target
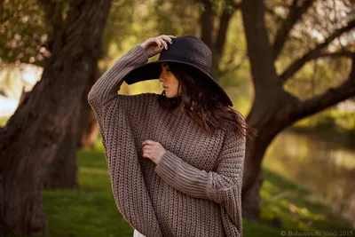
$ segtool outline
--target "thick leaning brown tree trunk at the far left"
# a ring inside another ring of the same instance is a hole
[[[0,232],[46,233],[42,180],[100,56],[110,0],[70,1],[42,80],[0,134]]]

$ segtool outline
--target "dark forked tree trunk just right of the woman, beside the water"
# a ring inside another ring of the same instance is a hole
[[[259,217],[259,190],[263,183],[261,163],[265,150],[272,138],[286,127],[285,121],[288,118],[280,112],[287,111],[282,108],[297,101],[280,86],[280,78],[272,58],[272,46],[264,27],[264,9],[262,0],[243,1],[241,4],[250,70],[256,93],[247,122],[258,132],[257,137],[248,143],[241,194],[243,216],[251,219]]]

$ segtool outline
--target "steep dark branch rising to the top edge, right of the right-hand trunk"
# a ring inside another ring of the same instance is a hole
[[[288,39],[289,32],[295,26],[296,22],[302,18],[304,12],[307,12],[307,10],[312,6],[314,1],[315,0],[305,0],[304,4],[297,6],[297,0],[295,0],[290,6],[288,17],[283,21],[273,43],[274,59],[277,59],[280,55],[280,51],[282,51],[283,45]]]

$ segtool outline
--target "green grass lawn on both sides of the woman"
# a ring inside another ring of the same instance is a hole
[[[133,235],[133,229],[114,204],[106,159],[102,147],[99,149],[98,152],[78,152],[80,190],[44,191],[48,236]],[[316,230],[351,230],[349,223],[332,213],[304,187],[270,170],[264,170],[264,178],[262,218],[260,221],[244,219],[244,236],[282,236],[282,230],[313,233]],[[273,217],[280,218],[281,229],[271,227]],[[346,236],[355,236],[355,231]]]

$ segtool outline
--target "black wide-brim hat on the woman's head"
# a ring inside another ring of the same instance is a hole
[[[178,36],[173,38],[172,41],[172,44],[168,43],[168,50],[162,50],[158,60],[134,68],[123,80],[128,84],[132,84],[158,79],[162,73],[162,62],[181,63],[196,69],[201,75],[201,79],[206,80],[209,85],[214,87],[213,90],[220,94],[221,102],[233,107],[233,103],[225,90],[210,75],[212,51],[210,51],[209,46],[195,36]]]

